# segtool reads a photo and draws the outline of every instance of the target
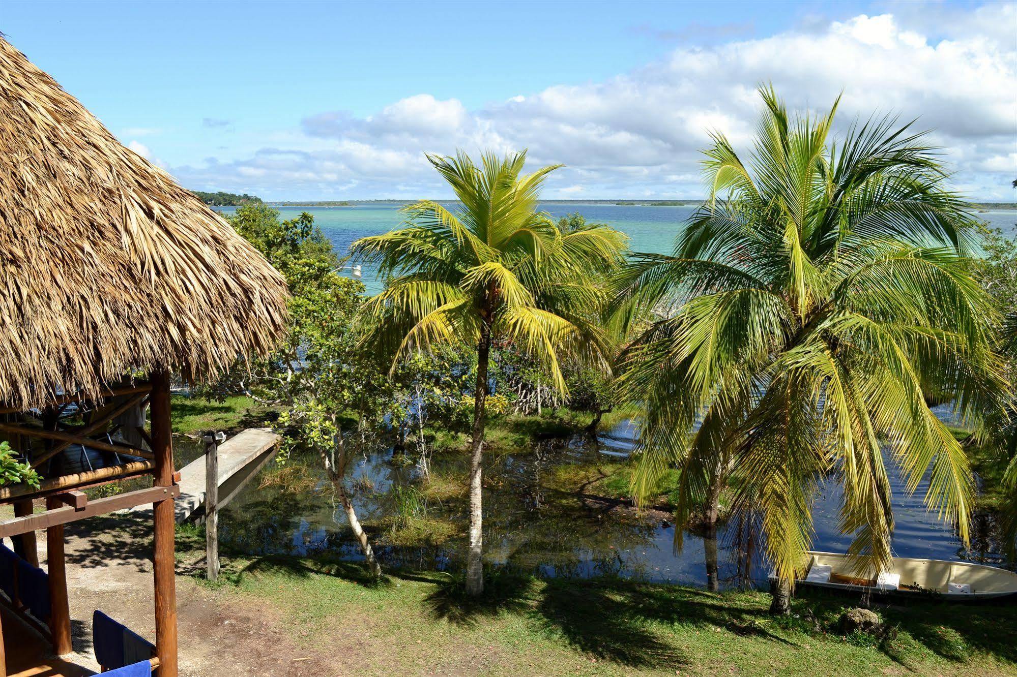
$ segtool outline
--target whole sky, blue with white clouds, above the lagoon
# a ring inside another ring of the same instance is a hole
[[[441,196],[425,150],[525,145],[570,166],[559,197],[697,196],[703,131],[747,140],[766,79],[796,106],[844,89],[849,114],[929,118],[958,187],[1012,199],[1017,106],[997,99],[1017,90],[1015,17],[1006,2],[6,0],[0,30],[191,188]]]

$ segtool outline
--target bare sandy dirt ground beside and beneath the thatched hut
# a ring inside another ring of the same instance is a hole
[[[149,640],[153,618],[152,528],[147,521],[106,519],[67,527],[67,587],[74,649],[85,665],[98,670],[92,653],[92,612],[100,609]],[[111,534],[115,535],[113,538]],[[46,538],[40,534],[40,559]],[[281,675],[311,677],[337,674],[323,652],[298,649],[293,628],[274,609],[249,595],[219,593],[180,572],[197,562],[177,562],[177,613],[180,674]],[[45,566],[45,565],[44,565]]]

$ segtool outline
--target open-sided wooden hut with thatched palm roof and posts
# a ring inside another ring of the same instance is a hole
[[[70,651],[63,525],[154,503],[154,665],[176,677],[171,374],[215,377],[267,352],[286,302],[229,224],[0,38],[0,433],[43,477],[0,486],[17,515],[0,537],[37,564],[35,530],[48,530],[42,629],[57,654]],[[152,486],[80,491],[136,476]],[[39,498],[48,509],[33,513]]]

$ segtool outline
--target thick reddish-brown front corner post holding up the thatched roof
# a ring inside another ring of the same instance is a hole
[[[170,419],[170,374],[152,379],[152,450],[156,455],[156,486],[173,484],[173,431]],[[177,581],[173,541],[176,530],[173,499],[154,505],[156,578],[156,656],[160,677],[177,677]]]

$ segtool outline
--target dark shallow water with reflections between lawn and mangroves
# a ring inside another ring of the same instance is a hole
[[[946,413],[944,413],[946,414]],[[948,418],[944,416],[944,418]],[[543,441],[518,454],[489,457],[485,470],[484,546],[491,563],[545,576],[622,575],[660,582],[705,583],[703,539],[686,533],[680,554],[673,552],[674,528],[667,515],[651,512],[638,516],[616,503],[584,501],[574,493],[556,489],[554,481],[562,466],[621,463],[634,445],[634,429],[616,426],[597,439],[575,437]],[[396,514],[397,492],[412,494],[419,486],[419,473],[405,466],[404,457],[392,449],[361,455],[355,463],[351,484],[357,487],[361,520],[377,521]],[[290,460],[301,466],[301,458]],[[221,538],[251,554],[331,554],[359,559],[342,508],[331,500],[331,488],[313,459],[306,463],[307,484],[303,491],[277,486],[258,487],[255,480],[224,511]],[[952,525],[937,519],[921,501],[925,485],[907,495],[896,468],[889,474],[894,488],[896,531],[893,547],[901,557],[972,559],[1008,565],[993,541],[993,525],[984,517],[972,527],[972,549],[965,550]],[[435,477],[466,473],[465,454],[437,456],[432,460]],[[815,496],[814,549],[843,552],[849,537],[837,531],[840,490],[821,486]],[[418,514],[420,514],[418,512]],[[465,533],[465,498],[430,500],[426,516],[452,524]],[[431,522],[433,524],[433,522]],[[421,527],[426,533],[428,527]],[[721,579],[726,584],[746,581],[744,572],[757,582],[764,580],[764,564],[756,557],[747,566],[739,553],[737,524],[732,520],[720,536]],[[459,565],[464,541],[451,539],[428,543],[421,538],[407,545],[391,533],[377,534],[383,564],[412,568],[445,569]]]

